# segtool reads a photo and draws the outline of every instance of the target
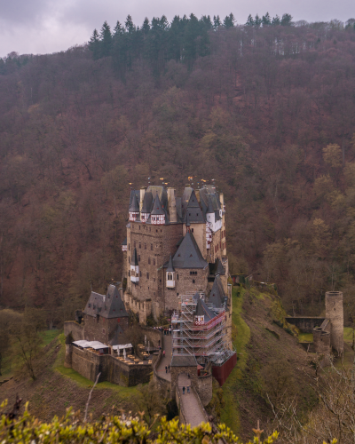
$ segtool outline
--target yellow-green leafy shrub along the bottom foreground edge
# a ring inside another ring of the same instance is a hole
[[[239,443],[241,441],[233,432],[219,424],[217,427],[201,423],[198,427],[178,424],[178,419],[168,421],[165,417],[156,416],[155,427],[148,427],[140,418],[124,418],[123,416],[102,416],[98,422],[83,423],[79,419],[79,412],[73,413],[67,409],[67,415],[58,418],[54,416],[51,423],[42,423],[28,413],[28,404],[23,415],[14,419],[4,414],[6,403],[3,402],[3,410],[0,416],[0,442],[2,443],[171,443],[181,444],[193,442],[196,444],[212,444],[224,439],[226,443]],[[261,431],[256,430],[254,444],[262,441],[259,439]],[[278,432],[264,440],[264,444],[271,444],[278,438]],[[251,444],[251,443],[249,443]]]

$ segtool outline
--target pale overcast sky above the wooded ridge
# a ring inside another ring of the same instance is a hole
[[[9,52],[47,53],[66,50],[87,42],[94,28],[107,20],[114,28],[117,20],[124,22],[128,14],[136,25],[145,17],[193,12],[221,18],[233,12],[238,23],[245,23],[248,14],[272,16],[290,13],[294,20],[348,20],[355,16],[354,0],[0,0],[0,57]]]

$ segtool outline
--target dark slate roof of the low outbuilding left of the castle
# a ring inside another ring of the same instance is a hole
[[[129,315],[122,302],[120,291],[114,285],[108,286],[106,296],[91,291],[83,313],[90,316],[99,314],[106,319],[125,318]]]

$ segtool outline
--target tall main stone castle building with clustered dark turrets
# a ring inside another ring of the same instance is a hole
[[[163,186],[132,190],[122,252],[124,302],[139,321],[170,316],[181,295],[200,292],[208,298],[217,280],[216,297],[225,301],[231,335],[225,201],[215,186],[185,186],[181,197]]]

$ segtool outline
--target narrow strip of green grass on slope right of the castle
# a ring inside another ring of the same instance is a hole
[[[237,292],[239,295],[237,296]],[[233,341],[233,346],[237,350],[237,365],[223,385],[223,396],[225,400],[225,408],[221,415],[221,422],[230,427],[233,432],[239,432],[240,419],[238,411],[238,401],[235,392],[238,389],[238,382],[241,380],[243,369],[248,361],[248,353],[246,345],[250,339],[250,329],[247,323],[242,319],[241,312],[243,306],[243,297],[245,289],[241,287],[233,287],[233,324],[237,328],[237,335]]]

